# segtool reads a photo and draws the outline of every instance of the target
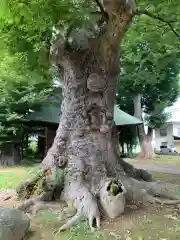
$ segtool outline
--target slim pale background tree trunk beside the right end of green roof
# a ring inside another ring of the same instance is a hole
[[[137,94],[133,97],[134,102],[134,116],[140,120],[142,119],[142,107],[141,107],[141,94]],[[144,124],[138,125],[138,136],[141,146],[140,158],[152,159],[153,147],[152,147],[152,133],[153,129],[148,127],[148,133],[146,134]]]

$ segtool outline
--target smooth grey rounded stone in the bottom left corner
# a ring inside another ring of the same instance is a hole
[[[0,208],[0,240],[22,240],[30,227],[30,219],[13,208]]]

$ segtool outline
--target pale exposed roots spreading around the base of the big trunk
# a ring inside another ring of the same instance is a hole
[[[48,178],[45,179],[46,183],[49,184],[48,186],[52,186],[52,189],[48,190],[49,187],[44,186],[44,192],[25,200],[18,206],[18,209],[27,212],[28,208],[32,207],[33,215],[35,215],[37,211],[44,207],[44,201],[52,201],[54,189],[56,189],[57,186],[61,186],[60,189],[62,190],[62,178],[59,184],[57,181],[53,182],[52,180],[54,179],[49,178],[49,175],[47,177]],[[75,179],[75,181],[73,181],[72,176],[69,177],[69,180],[72,181],[68,181],[68,184],[65,185],[64,192],[66,193],[67,199],[63,200],[66,201],[68,205],[70,202],[70,205],[73,205],[77,213],[60,227],[58,233],[71,228],[80,221],[81,218],[88,219],[92,231],[95,230],[95,227],[97,229],[100,228],[101,209],[98,204],[99,200],[103,212],[110,218],[116,218],[124,213],[126,200],[133,201],[135,204],[176,205],[180,203],[180,196],[177,194],[177,190],[179,190],[180,187],[169,183],[156,181],[146,182],[142,181],[142,179],[138,181],[134,178],[121,175],[119,176],[119,180],[105,178],[101,180],[100,186],[97,187],[99,199],[96,199],[91,192],[91,187],[88,187],[89,185],[86,185],[83,180]],[[24,185],[25,187],[22,189],[27,191],[26,187],[30,186],[30,183],[37,183],[39,179],[36,178],[33,179],[33,181],[27,181]],[[53,185],[51,185],[52,182]]]

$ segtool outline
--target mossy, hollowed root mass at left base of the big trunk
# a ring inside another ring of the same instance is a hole
[[[19,199],[23,200],[17,208],[27,212],[31,206],[36,209],[36,205],[40,206],[43,204],[42,202],[60,199],[63,185],[63,171],[56,169],[53,172],[48,167],[48,169],[38,172],[33,179],[25,181],[17,188],[17,195]],[[34,213],[36,211],[34,210]]]

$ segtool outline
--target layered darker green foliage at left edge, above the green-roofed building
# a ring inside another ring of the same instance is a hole
[[[0,59],[1,145],[20,138],[22,123],[19,120],[47,101],[51,81],[29,71],[21,54],[10,55],[4,48]]]

